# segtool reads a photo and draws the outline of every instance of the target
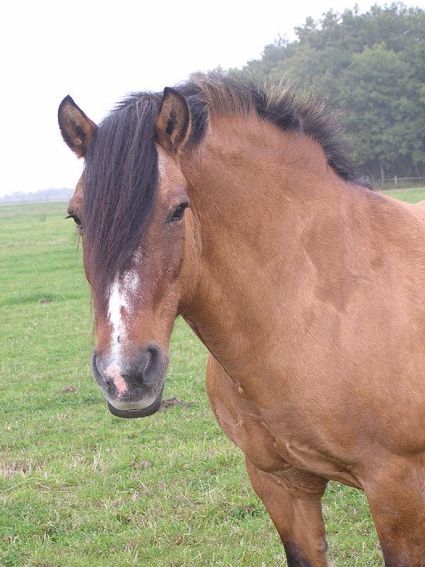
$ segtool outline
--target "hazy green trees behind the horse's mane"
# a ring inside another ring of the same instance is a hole
[[[242,72],[290,79],[342,106],[353,158],[375,180],[425,176],[425,11],[330,10],[295,33]]]

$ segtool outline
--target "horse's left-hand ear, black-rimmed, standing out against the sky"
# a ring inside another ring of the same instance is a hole
[[[90,140],[96,132],[96,124],[87,118],[69,95],[60,103],[57,119],[60,132],[68,147],[78,157],[84,157]]]

